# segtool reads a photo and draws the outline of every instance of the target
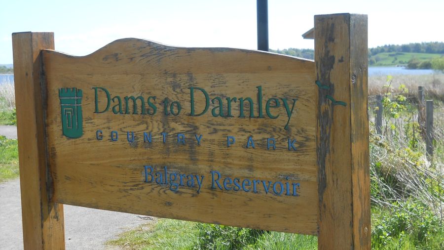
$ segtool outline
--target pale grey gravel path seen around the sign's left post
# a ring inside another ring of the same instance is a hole
[[[15,126],[0,126],[0,135],[17,138]],[[118,249],[104,245],[118,234],[146,224],[150,217],[63,205],[67,250]],[[23,249],[20,179],[0,183],[0,250]]]

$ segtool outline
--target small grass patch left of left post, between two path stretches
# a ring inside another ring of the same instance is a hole
[[[17,140],[0,135],[0,182],[19,176]]]

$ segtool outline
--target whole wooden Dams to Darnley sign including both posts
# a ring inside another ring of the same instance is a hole
[[[59,204],[370,248],[366,25],[316,16],[316,63],[140,39],[76,57],[13,34],[25,248],[64,246]]]

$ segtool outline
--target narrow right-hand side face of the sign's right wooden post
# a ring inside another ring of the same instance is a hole
[[[368,109],[368,20],[350,16],[350,109],[353,247],[370,250],[370,162]]]

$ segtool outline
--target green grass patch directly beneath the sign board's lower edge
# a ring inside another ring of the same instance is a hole
[[[252,234],[251,232],[260,232]],[[212,237],[210,240],[208,237]],[[130,250],[314,250],[317,237],[156,219],[107,243]]]

